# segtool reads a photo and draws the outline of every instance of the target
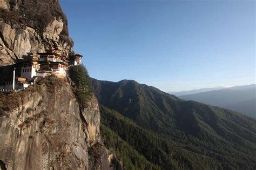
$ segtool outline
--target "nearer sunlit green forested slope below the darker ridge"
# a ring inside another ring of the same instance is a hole
[[[221,168],[217,161],[208,157],[204,158],[204,155],[190,153],[175,142],[166,140],[156,133],[137,126],[114,110],[101,106],[100,112],[102,113],[102,126],[111,129],[109,133],[106,133],[104,128],[103,131],[100,131],[105,145],[113,147],[121,158],[129,158],[125,160],[129,164],[124,164],[127,169],[132,167],[130,166],[131,163],[135,169],[145,169],[140,167],[145,166],[147,161],[153,164],[152,168],[157,169]],[[123,142],[119,141],[121,139]],[[131,150],[129,146],[134,149]],[[122,150],[120,151],[119,148],[122,148]],[[134,157],[138,154],[145,157],[146,161]],[[133,160],[133,162],[130,160]]]

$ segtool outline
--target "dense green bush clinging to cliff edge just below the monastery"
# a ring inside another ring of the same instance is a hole
[[[91,97],[91,81],[85,66],[71,66],[69,69],[69,77],[76,84],[73,91],[80,106],[86,107],[86,103]]]

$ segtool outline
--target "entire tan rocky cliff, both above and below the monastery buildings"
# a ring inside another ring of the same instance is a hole
[[[73,53],[56,0],[0,1],[0,66],[57,46]],[[80,107],[68,77],[42,78],[18,93],[0,93],[0,167],[110,169],[95,96]]]

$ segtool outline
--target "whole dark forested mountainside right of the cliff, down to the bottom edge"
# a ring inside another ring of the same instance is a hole
[[[134,80],[92,79],[100,132],[127,169],[254,169],[256,119]]]

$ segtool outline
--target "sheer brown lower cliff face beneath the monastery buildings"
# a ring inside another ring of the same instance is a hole
[[[7,169],[110,168],[94,95],[80,108],[68,80],[52,76],[1,98],[8,105],[0,113],[0,160]]]

